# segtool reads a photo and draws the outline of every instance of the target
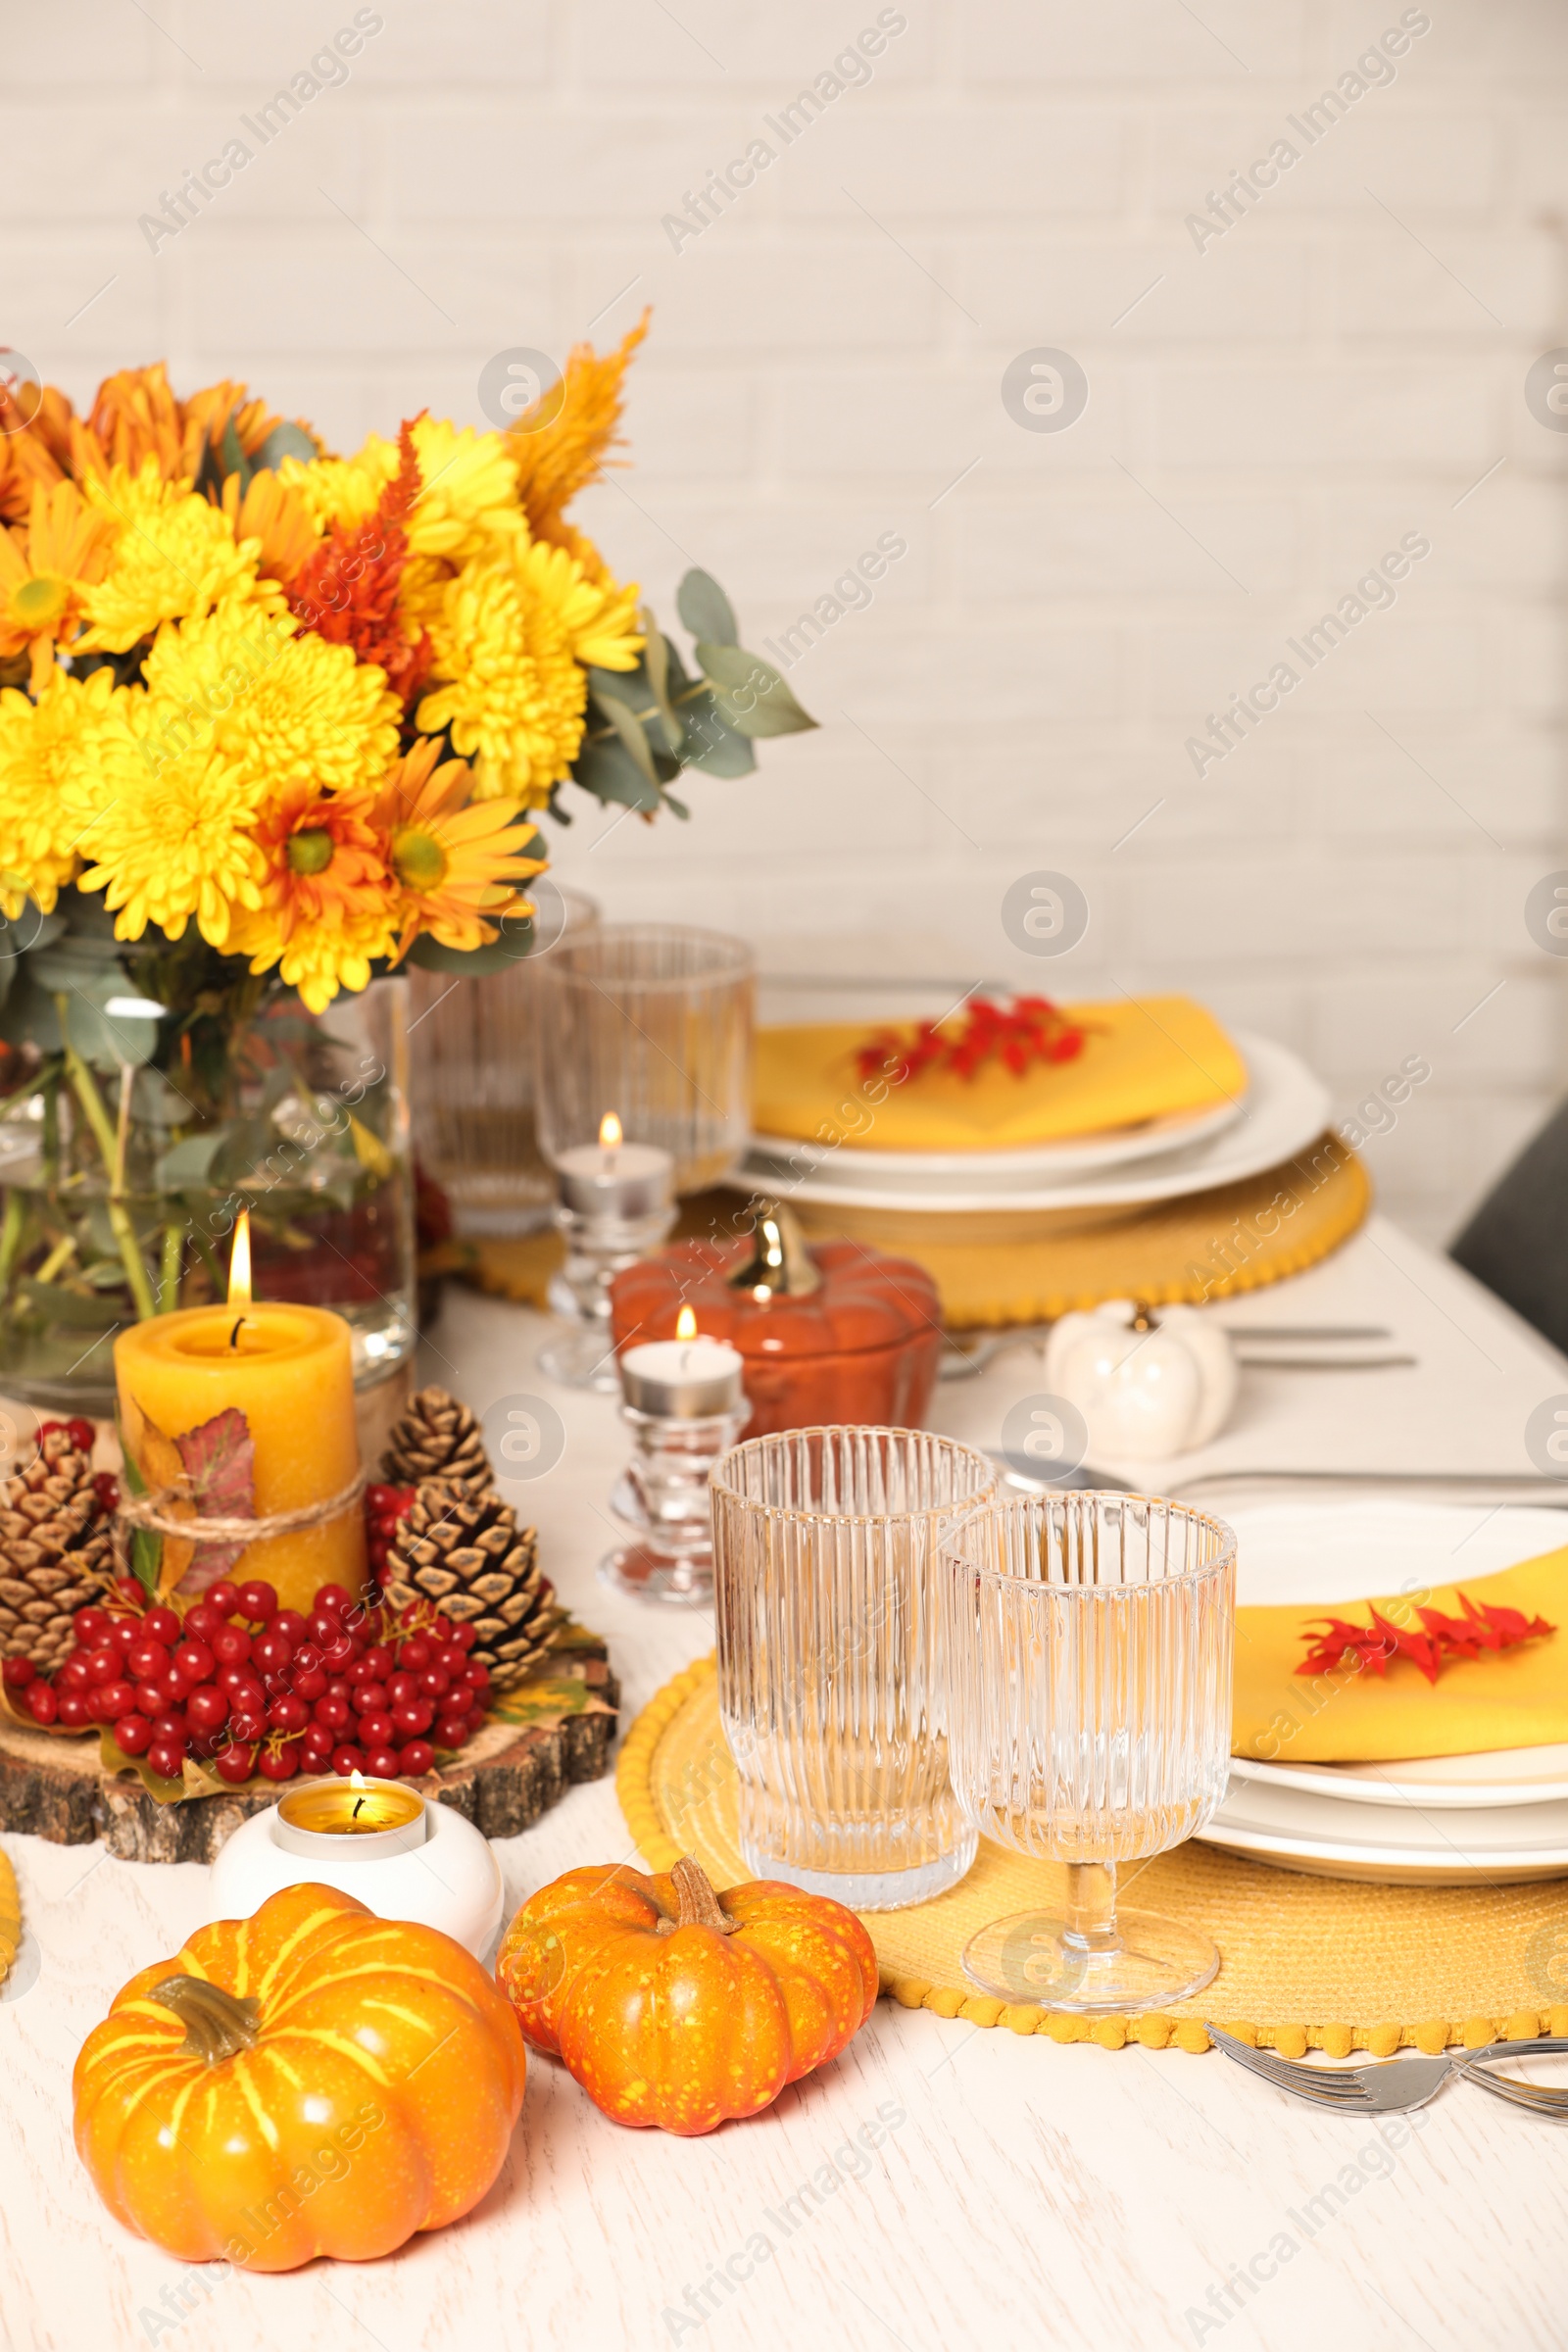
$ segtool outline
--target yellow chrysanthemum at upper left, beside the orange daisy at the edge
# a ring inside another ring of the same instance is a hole
[[[125,654],[160,621],[209,612],[219,597],[249,595],[282,604],[273,581],[256,581],[254,539],[235,541],[228,515],[179,482],[165,482],[158,459],[141,473],[115,466],[108,482],[89,475],[87,503],[113,517],[118,539],[103,579],[82,595],[85,654]]]

